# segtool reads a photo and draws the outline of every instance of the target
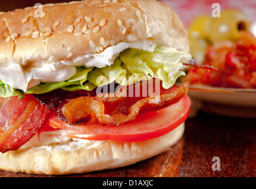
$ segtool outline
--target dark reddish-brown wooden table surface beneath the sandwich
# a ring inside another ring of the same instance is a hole
[[[220,171],[213,171],[213,157]],[[46,177],[0,171],[1,177]],[[256,119],[199,112],[189,118],[183,138],[161,155],[129,167],[61,177],[255,177]],[[47,176],[60,177],[60,176]]]

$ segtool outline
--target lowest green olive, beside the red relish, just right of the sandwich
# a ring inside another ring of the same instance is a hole
[[[190,54],[196,58],[199,63],[202,63],[206,54],[207,44],[206,40],[201,38],[189,38],[190,41]]]

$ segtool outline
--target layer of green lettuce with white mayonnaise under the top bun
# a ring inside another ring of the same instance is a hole
[[[183,63],[190,61],[191,55],[141,40],[122,42],[102,53],[85,54],[71,60],[23,60],[23,67],[15,63],[1,67],[1,97],[21,98],[24,94],[47,93],[59,88],[91,91],[114,81],[129,85],[152,77],[162,80],[163,87],[168,89],[185,74],[181,71]]]

